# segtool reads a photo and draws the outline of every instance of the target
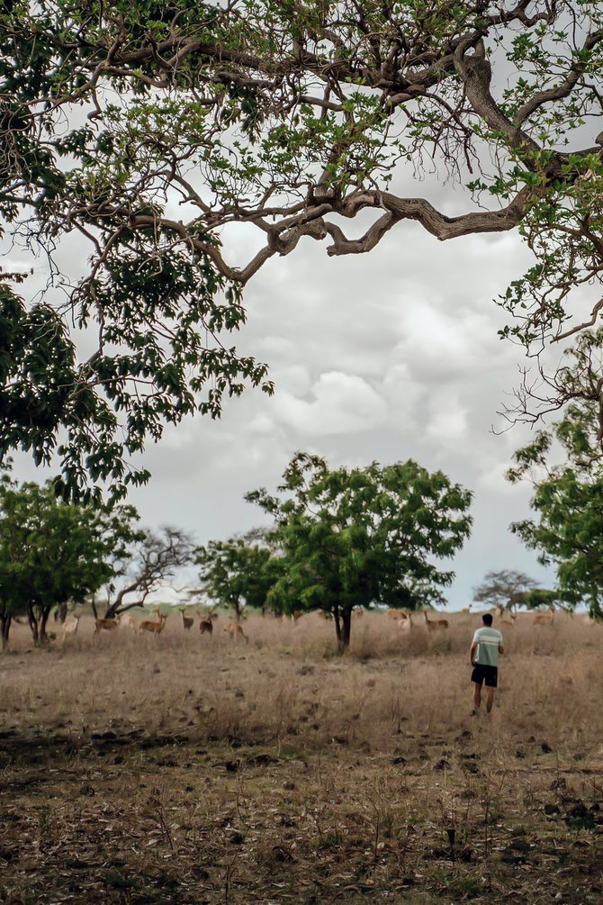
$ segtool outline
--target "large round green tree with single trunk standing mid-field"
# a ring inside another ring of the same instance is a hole
[[[450,584],[454,572],[432,560],[453,556],[471,526],[471,493],[410,460],[331,471],[298,452],[278,491],[246,497],[274,517],[283,549],[269,597],[284,612],[332,614],[340,650],[350,643],[354,606],[415,609]]]

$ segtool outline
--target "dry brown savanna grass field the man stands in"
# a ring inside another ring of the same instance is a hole
[[[0,900],[603,900],[603,626],[521,614],[488,718],[479,619],[253,616],[0,659]]]

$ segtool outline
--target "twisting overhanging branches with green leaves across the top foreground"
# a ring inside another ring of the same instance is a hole
[[[245,379],[270,389],[221,334],[244,320],[244,284],[304,237],[342,255],[407,220],[441,241],[519,228],[537,262],[503,300],[520,315],[505,332],[528,348],[574,329],[570,296],[600,282],[597,3],[42,0],[0,24],[0,216],[33,250],[90,247],[62,307],[6,290],[2,445],[44,460],[65,427],[67,492],[124,491],[146,478],[127,454],[165,421],[219,414]],[[400,195],[400,167],[428,159],[466,184],[465,213]],[[342,219],[361,212],[353,237]],[[250,260],[231,259],[232,224],[257,233]],[[70,319],[98,333],[85,362]]]

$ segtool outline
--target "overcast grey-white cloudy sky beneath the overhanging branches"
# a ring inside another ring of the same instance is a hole
[[[410,189],[410,175],[399,183]],[[449,186],[413,188],[448,214],[470,205]],[[345,228],[360,234],[365,224]],[[255,250],[243,228],[224,239],[232,263]],[[61,266],[76,277],[87,253],[72,244]],[[297,450],[334,467],[413,458],[475,494],[472,537],[442,564],[457,572],[445,591],[450,608],[471,602],[490,569],[521,569],[550,586],[551,573],[509,531],[529,512],[530,488],[504,481],[526,430],[492,432],[504,427],[496,411],[523,364],[521,349],[497,337],[504,313],[493,300],[530,261],[515,233],[438,243],[412,223],[370,254],[329,259],[324,243],[306,239],[273,258],[247,287],[248,324],[234,341],[269,363],[275,395],[250,389],[226,401],[219,422],[199,416],[169,427],[146,452],[151,482],[131,494],[144,523],[190,529],[199,542],[262,523],[243,495],[274,488]],[[13,251],[5,265],[31,261]],[[44,279],[38,262],[29,293]],[[15,475],[36,477],[24,457]]]

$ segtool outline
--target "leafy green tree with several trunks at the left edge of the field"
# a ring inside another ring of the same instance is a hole
[[[34,643],[46,640],[52,610],[83,601],[110,581],[136,536],[137,512],[58,500],[50,483],[0,483],[0,624],[8,644],[15,614]]]

